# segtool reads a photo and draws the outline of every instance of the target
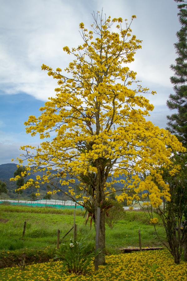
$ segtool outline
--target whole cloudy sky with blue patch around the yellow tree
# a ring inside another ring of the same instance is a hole
[[[0,0],[0,164],[19,156],[20,145],[38,144],[25,133],[23,123],[38,115],[56,80],[42,63],[64,69],[70,56],[62,47],[82,44],[79,23],[90,27],[91,13],[103,8],[107,16],[137,19],[132,33],[143,40],[131,69],[143,86],[157,91],[150,96],[155,109],[150,120],[165,128],[171,114],[165,102],[173,91],[170,64],[176,54],[173,44],[180,29],[177,3],[173,0]]]

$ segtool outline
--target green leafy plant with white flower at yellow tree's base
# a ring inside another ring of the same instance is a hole
[[[89,270],[89,264],[96,255],[93,244],[88,243],[86,238],[81,238],[80,240],[70,239],[70,243],[60,244],[55,258],[63,260],[69,272],[79,275]]]

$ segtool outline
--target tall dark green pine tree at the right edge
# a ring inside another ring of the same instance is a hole
[[[174,71],[174,76],[170,77],[170,81],[174,85],[175,94],[170,94],[167,106],[177,112],[167,116],[169,122],[166,129],[175,134],[187,147],[187,2],[174,1],[182,2],[178,5],[181,29],[176,33],[178,42],[174,44],[178,57],[175,59],[175,64],[170,66]]]

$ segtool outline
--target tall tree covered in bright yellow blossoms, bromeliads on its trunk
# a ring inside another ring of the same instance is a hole
[[[83,205],[92,210],[92,218],[97,221],[97,207],[108,208],[107,195],[115,192],[113,185],[119,182],[119,175],[124,179],[118,201],[127,200],[130,204],[144,190],[150,194],[153,206],[158,206],[163,196],[169,200],[168,185],[157,168],[170,165],[172,150],[180,151],[182,146],[169,131],[145,119],[154,107],[145,97],[149,89],[136,83],[137,73],[129,68],[141,48],[141,41],[131,34],[131,23],[125,20],[123,27],[121,17],[103,19],[99,12],[93,13],[93,19],[91,31],[84,23],[79,25],[82,45],[71,50],[63,48],[74,56],[65,68],[67,75],[60,68],[53,70],[42,65],[42,70],[57,79],[56,96],[40,108],[41,116],[30,116],[25,122],[27,133],[40,134],[40,147],[23,146],[22,150],[28,160],[27,171],[34,166],[34,172],[44,172],[42,177],[37,176],[38,190],[40,184],[57,178],[61,188],[54,184],[51,192],[63,191],[63,186],[68,185],[74,200],[84,195]],[[147,171],[150,174],[146,177]],[[77,195],[76,179],[80,182]],[[27,184],[22,186],[25,188]],[[99,248],[99,263],[103,264],[104,211],[100,218]]]

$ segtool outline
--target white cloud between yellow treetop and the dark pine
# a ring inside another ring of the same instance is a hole
[[[129,67],[137,71],[137,79],[147,86],[171,87],[170,64],[176,58],[173,44],[177,40],[175,33],[180,28],[177,4],[170,0],[119,0],[113,5],[102,0],[98,5],[102,5],[112,17],[127,18],[129,22],[133,14],[137,16],[131,28],[132,34],[143,40],[142,49],[137,51],[135,61]]]

